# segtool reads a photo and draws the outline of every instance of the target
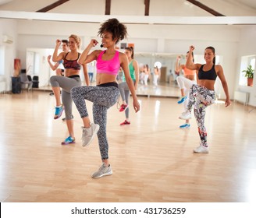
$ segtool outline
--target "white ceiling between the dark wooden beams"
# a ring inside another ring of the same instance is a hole
[[[57,0],[0,0],[0,10],[36,12]],[[197,0],[225,16],[256,16],[256,0]],[[105,15],[105,0],[69,0],[54,13]],[[144,0],[112,0],[111,15],[144,16]],[[212,16],[186,0],[150,0],[149,16]]]

